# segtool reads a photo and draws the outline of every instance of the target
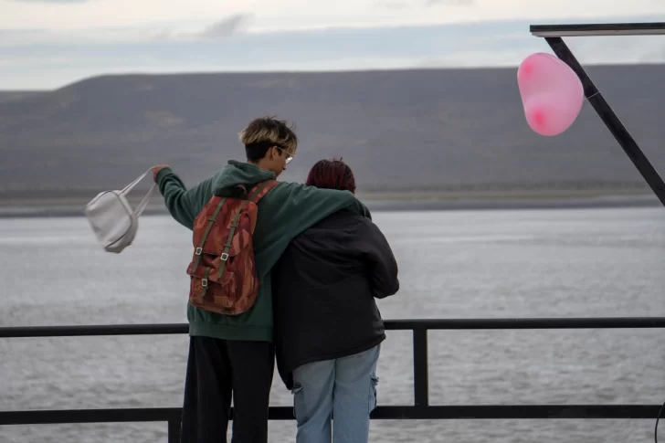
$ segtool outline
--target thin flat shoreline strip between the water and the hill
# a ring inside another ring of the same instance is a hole
[[[618,207],[659,207],[655,195],[594,195],[594,196],[528,196],[485,198],[376,198],[359,195],[372,212],[387,211],[469,211],[521,209],[594,209]],[[132,202],[132,204],[135,204]],[[149,205],[146,216],[165,216],[164,206]],[[72,217],[84,216],[83,205],[9,205],[0,206],[0,218]]]

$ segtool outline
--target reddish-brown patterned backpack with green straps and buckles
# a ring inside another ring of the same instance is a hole
[[[257,225],[257,203],[277,185],[268,180],[245,198],[213,196],[194,221],[194,258],[189,303],[219,314],[248,311],[259,295],[252,234]]]

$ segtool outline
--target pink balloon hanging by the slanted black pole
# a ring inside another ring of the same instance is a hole
[[[517,84],[526,121],[541,135],[565,132],[582,110],[582,81],[573,69],[550,54],[537,52],[525,58],[517,70]]]

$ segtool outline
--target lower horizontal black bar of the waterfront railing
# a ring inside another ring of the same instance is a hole
[[[655,419],[660,405],[378,406],[373,419]],[[0,411],[0,426],[180,420],[181,409],[121,408]],[[272,406],[270,420],[292,420],[293,408]]]

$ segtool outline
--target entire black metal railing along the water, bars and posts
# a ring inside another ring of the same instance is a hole
[[[374,419],[533,419],[633,418],[656,419],[660,405],[480,405],[430,406],[428,393],[429,330],[560,330],[665,328],[665,317],[450,319],[385,322],[391,331],[413,331],[414,406],[378,406]],[[81,337],[107,335],[183,334],[187,324],[125,324],[0,328],[0,338]],[[0,411],[0,426],[58,423],[168,423],[168,441],[180,438],[181,408],[120,408],[79,410]],[[233,417],[233,414],[231,414]],[[288,406],[270,407],[271,420],[293,419]]]

